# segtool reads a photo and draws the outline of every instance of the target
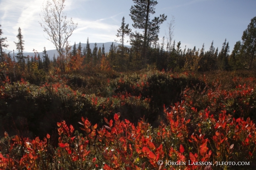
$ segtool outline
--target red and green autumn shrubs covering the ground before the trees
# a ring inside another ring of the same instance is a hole
[[[56,75],[42,86],[24,79],[2,83],[0,168],[255,169],[253,75],[115,76],[91,71],[87,77]],[[103,86],[101,93],[75,90],[76,79],[95,89]],[[186,165],[165,167],[166,160]],[[250,165],[199,166],[197,161]]]

